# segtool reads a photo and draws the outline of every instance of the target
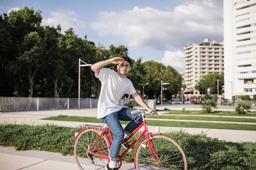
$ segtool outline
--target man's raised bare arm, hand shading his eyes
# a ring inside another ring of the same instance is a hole
[[[99,71],[102,67],[108,64],[118,64],[119,62],[124,62],[124,59],[121,57],[110,58],[108,60],[100,61],[95,64],[92,64],[91,69],[94,73],[99,74]]]

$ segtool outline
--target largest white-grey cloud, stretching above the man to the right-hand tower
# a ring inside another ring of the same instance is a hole
[[[221,42],[223,19],[220,2],[194,0],[190,4],[177,6],[174,11],[139,7],[131,11],[105,11],[99,13],[99,19],[90,27],[99,36],[119,36],[134,48],[183,49],[186,42],[202,42],[205,38]]]

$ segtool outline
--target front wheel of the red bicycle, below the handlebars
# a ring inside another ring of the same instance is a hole
[[[150,145],[155,161],[151,152]],[[144,139],[135,151],[137,170],[187,170],[186,155],[181,146],[172,138],[152,135],[150,144]]]

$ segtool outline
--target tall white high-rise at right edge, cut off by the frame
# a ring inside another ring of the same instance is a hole
[[[256,94],[256,0],[223,0],[225,99]]]

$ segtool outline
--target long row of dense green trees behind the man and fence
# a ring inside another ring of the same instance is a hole
[[[106,48],[78,37],[72,28],[61,33],[61,25],[42,26],[41,11],[25,7],[0,15],[0,96],[77,97],[79,58],[94,64],[112,57],[128,56],[128,48],[111,44]],[[116,66],[106,66],[116,70]],[[160,95],[161,80],[168,82],[166,97],[182,88],[182,75],[173,67],[142,58],[132,62],[127,75],[140,93],[148,83],[149,98]],[[90,67],[81,67],[81,97],[98,97],[101,83]]]

